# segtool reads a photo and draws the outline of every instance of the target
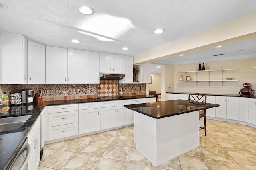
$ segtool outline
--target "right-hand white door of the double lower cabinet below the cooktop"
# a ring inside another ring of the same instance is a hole
[[[130,124],[130,109],[124,106],[116,106],[116,126]]]

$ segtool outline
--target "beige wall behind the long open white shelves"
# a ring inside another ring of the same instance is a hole
[[[229,61],[215,61],[205,63],[206,70],[210,67],[210,70],[221,69],[232,69],[238,68],[238,70],[228,70],[223,71],[223,80],[226,77],[233,77],[233,80],[238,80],[237,82],[177,82],[180,74],[182,74],[185,80],[186,76],[190,76],[191,80],[196,80],[196,72],[192,73],[177,73],[180,71],[196,71],[198,68],[198,63],[194,64],[181,64],[174,66],[174,92],[200,92],[200,93],[214,93],[214,94],[238,94],[239,90],[243,88],[242,84],[244,82],[250,83],[252,89],[256,90],[256,57],[249,59],[238,59]],[[208,80],[208,74],[210,75],[210,80],[221,80],[222,72],[198,72],[198,80]],[[254,93],[255,95],[256,93]]]

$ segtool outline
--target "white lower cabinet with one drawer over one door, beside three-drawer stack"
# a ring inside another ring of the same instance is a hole
[[[100,102],[79,104],[79,134],[100,130]]]

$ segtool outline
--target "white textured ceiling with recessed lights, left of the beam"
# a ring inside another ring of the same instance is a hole
[[[20,33],[45,45],[132,56],[256,11],[256,0],[0,1],[8,7],[0,8],[1,31]],[[81,14],[81,6],[94,8],[95,13]],[[130,23],[123,31],[118,25],[121,20]],[[96,25],[95,29],[89,28],[89,23]],[[99,35],[106,28],[119,30],[103,35],[113,42],[78,32]],[[165,29],[164,33],[153,34],[157,28]],[[72,39],[81,43],[72,43]]]

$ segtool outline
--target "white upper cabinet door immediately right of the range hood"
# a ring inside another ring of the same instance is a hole
[[[133,83],[133,57],[123,56],[123,73],[125,77],[119,83]]]

